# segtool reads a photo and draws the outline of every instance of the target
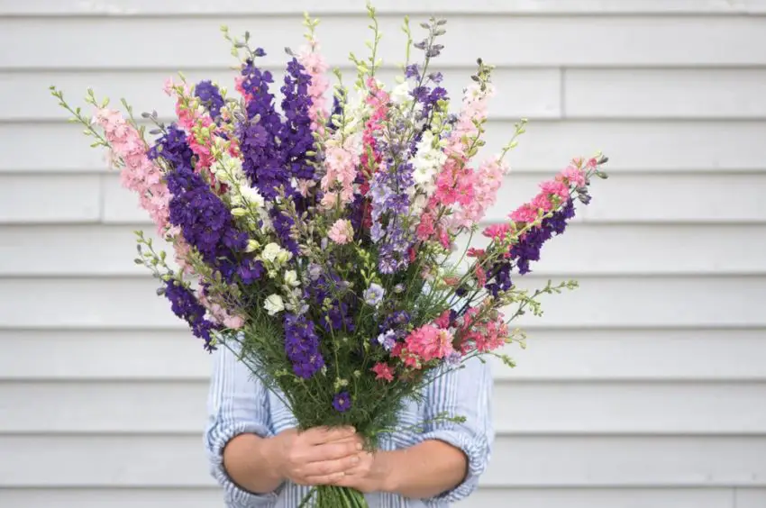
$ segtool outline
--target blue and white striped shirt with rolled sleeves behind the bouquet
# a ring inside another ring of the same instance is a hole
[[[415,426],[443,412],[465,416],[466,422],[427,423],[424,433],[398,432],[381,439],[380,449],[403,449],[423,440],[442,440],[465,452],[469,464],[468,475],[461,485],[431,499],[406,499],[389,493],[367,494],[370,508],[443,508],[464,499],[476,489],[479,476],[488,465],[494,440],[490,414],[492,377],[488,363],[474,358],[464,365],[426,386],[424,402],[409,404],[400,414],[400,422],[402,427]],[[218,349],[214,353],[208,398],[205,449],[211,473],[223,486],[226,506],[298,506],[309,487],[287,482],[277,492],[253,494],[235,485],[223,468],[223,447],[233,437],[245,432],[269,437],[292,427],[296,427],[296,420],[279,397],[254,379],[231,351]]]

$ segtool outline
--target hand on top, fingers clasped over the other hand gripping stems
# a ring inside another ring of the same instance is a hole
[[[297,485],[332,485],[360,461],[362,443],[351,427],[280,432],[272,438],[279,476]]]

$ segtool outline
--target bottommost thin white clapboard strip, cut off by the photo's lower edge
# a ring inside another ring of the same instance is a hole
[[[524,508],[761,508],[761,504],[732,503],[727,488],[490,488],[481,487],[459,508],[524,506]],[[759,492],[757,489],[737,492]],[[761,490],[761,492],[763,492]],[[223,508],[217,486],[183,488],[52,488],[0,489],[0,505],[25,508]]]

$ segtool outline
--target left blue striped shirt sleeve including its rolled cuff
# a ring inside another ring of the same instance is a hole
[[[277,494],[253,494],[236,485],[223,467],[223,449],[234,437],[253,433],[269,437],[269,397],[232,351],[221,346],[213,353],[213,372],[207,400],[205,449],[211,474],[223,486],[229,508],[267,508]]]

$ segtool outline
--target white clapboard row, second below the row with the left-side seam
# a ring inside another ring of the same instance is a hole
[[[543,317],[522,316],[519,326],[752,327],[766,324],[757,305],[766,299],[763,277],[577,277],[579,288],[543,295]],[[547,279],[520,277],[520,288]],[[555,279],[554,282],[561,279]],[[6,328],[146,329],[181,326],[154,280],[136,278],[3,281],[0,322]]]

